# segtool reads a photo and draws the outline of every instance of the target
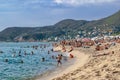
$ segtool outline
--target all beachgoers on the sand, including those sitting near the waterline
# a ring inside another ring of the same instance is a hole
[[[71,46],[70,50],[67,51],[68,53],[73,51],[74,48],[90,48],[91,46],[95,46],[95,51],[101,51],[101,50],[107,50],[111,46],[115,46],[116,43],[120,43],[120,37],[106,37],[106,38],[96,38],[96,39],[89,39],[89,38],[83,38],[83,39],[73,39],[73,40],[62,40],[60,43],[54,44],[54,46],[61,45],[62,51],[66,52],[65,46]],[[112,51],[111,53],[114,53]],[[109,53],[104,53],[104,55],[108,55]],[[99,54],[97,54],[99,55]],[[100,54],[101,55],[101,54]],[[69,55],[70,57],[73,57],[73,54]]]

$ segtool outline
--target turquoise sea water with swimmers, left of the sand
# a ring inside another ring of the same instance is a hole
[[[51,56],[58,53],[51,49],[50,43],[0,43],[0,80],[25,80],[55,68],[56,59]],[[43,57],[44,62],[41,61]]]

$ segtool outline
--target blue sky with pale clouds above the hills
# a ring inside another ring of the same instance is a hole
[[[0,0],[0,31],[41,27],[64,19],[97,20],[120,10],[120,0]]]

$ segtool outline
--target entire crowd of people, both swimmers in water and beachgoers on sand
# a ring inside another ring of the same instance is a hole
[[[73,39],[73,40],[62,40],[59,43],[53,43],[53,47],[57,47],[59,45],[62,46],[62,51],[63,52],[68,52],[70,53],[71,51],[74,50],[74,48],[78,48],[78,47],[83,47],[83,48],[89,48],[93,45],[95,45],[95,51],[101,51],[101,50],[105,50],[105,49],[109,49],[111,46],[116,45],[116,43],[120,43],[120,38],[119,37],[113,37],[113,38],[98,38],[98,39]],[[66,46],[70,46],[69,51],[66,50]],[[22,50],[20,49],[19,51],[16,51],[15,49],[11,50],[11,57],[25,57],[26,55],[35,55],[36,53],[34,52],[34,50],[38,50],[41,49],[41,51],[46,50],[46,48],[49,47],[49,45],[46,44],[41,44],[41,45],[33,45],[33,46],[27,46],[27,48],[32,48],[32,51],[30,51],[29,53],[26,50]],[[48,50],[47,54],[49,55],[51,52],[53,52],[53,49]],[[4,53],[3,51],[1,51],[1,53]],[[39,52],[40,53],[40,52]],[[112,52],[114,53],[114,51]],[[109,53],[105,53],[109,54]],[[99,55],[99,54],[98,54]],[[50,56],[51,59],[56,59],[57,65],[61,65],[62,64],[62,60],[63,60],[63,55],[62,54],[58,54],[57,56],[52,55]],[[74,58],[73,54],[69,54],[70,58]],[[8,58],[4,59],[5,62],[9,62]],[[41,58],[42,62],[46,61],[45,57]],[[24,60],[19,61],[19,63],[24,63]]]

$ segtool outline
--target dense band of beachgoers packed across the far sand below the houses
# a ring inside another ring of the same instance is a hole
[[[101,45],[105,43],[104,45]],[[73,40],[62,40],[59,44],[63,46],[63,50],[65,50],[64,46],[71,46],[71,47],[84,47],[84,48],[89,48],[90,46],[96,45],[96,50],[103,50],[103,49],[108,49],[111,45],[115,45],[115,43],[120,43],[120,38],[119,37],[113,37],[113,38],[98,38],[95,40],[92,39],[73,39]],[[57,44],[56,44],[57,46]],[[73,49],[73,48],[72,48]]]

